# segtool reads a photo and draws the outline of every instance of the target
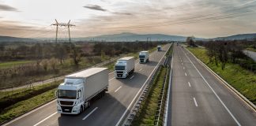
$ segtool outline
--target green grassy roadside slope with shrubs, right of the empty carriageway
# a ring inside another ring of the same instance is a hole
[[[220,45],[218,48],[221,48]],[[243,54],[241,54],[243,57],[235,57],[234,60],[231,56],[232,53],[228,52],[223,63],[219,59],[221,57],[218,55],[212,56],[207,47],[205,49],[188,47],[187,49],[256,105],[255,69],[248,68],[248,66],[254,64],[254,61]]]

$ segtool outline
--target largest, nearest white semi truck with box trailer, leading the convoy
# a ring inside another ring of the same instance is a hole
[[[82,113],[92,99],[105,94],[107,87],[107,68],[92,68],[66,76],[56,92],[58,113]]]

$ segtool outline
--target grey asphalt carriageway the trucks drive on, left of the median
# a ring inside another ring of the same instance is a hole
[[[159,61],[164,58],[164,54],[170,46],[170,44],[164,46],[161,52],[152,52],[149,63],[136,63],[134,74],[127,79],[117,80],[114,77],[114,72],[111,72],[109,74],[109,91],[103,98],[93,102],[84,113],[79,115],[56,113],[56,100],[54,100],[4,125],[116,125],[128,106],[134,101],[137,92],[144,85],[145,80],[149,78],[153,69],[156,68],[156,65],[161,64]]]

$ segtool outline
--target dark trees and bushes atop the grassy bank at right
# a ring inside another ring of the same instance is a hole
[[[243,68],[254,71],[254,61],[250,59],[243,50],[247,46],[252,46],[254,42],[248,41],[209,41],[196,42],[197,45],[205,46],[209,61],[215,65],[221,65],[221,69],[225,69],[227,63],[239,64]]]

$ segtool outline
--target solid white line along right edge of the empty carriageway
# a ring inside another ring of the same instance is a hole
[[[186,55],[186,53],[183,50],[183,53]],[[201,75],[201,72],[199,72],[199,70],[196,68],[196,66],[194,65],[194,63],[190,60],[190,57],[188,57],[186,55],[186,58],[190,61],[190,63],[194,66],[194,69],[196,69],[199,73],[199,75],[201,76],[201,78],[203,80],[205,80],[205,77]],[[205,80],[205,83],[208,85],[208,87],[213,91],[213,94],[216,96],[216,98],[218,98],[218,100],[220,101],[220,103],[222,104],[222,106],[224,106],[224,108],[228,111],[228,113],[230,114],[230,116],[235,120],[235,123],[238,124],[239,126],[241,126],[241,124],[239,123],[238,120],[236,120],[236,118],[234,117],[234,115],[231,113],[231,111],[228,109],[228,107],[224,104],[224,102],[222,102],[222,100],[220,99],[219,95],[216,94],[216,92],[213,90],[213,87],[211,87],[209,85],[209,83]]]

